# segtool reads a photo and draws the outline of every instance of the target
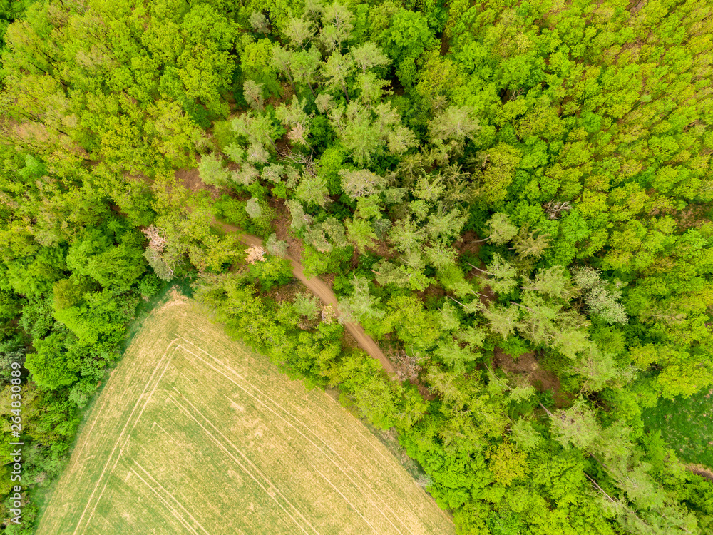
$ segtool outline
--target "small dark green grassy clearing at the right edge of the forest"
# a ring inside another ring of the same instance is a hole
[[[685,399],[659,399],[644,412],[647,429],[661,436],[684,461],[713,468],[713,389]]]

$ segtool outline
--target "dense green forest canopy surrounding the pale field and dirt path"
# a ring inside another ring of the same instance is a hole
[[[235,335],[396,427],[463,534],[709,533],[712,482],[642,409],[713,384],[712,25],[704,0],[0,3],[0,411],[24,362],[31,489],[142,297],[199,272]]]

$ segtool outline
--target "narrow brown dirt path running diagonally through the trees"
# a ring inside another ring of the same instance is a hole
[[[245,234],[242,232],[241,228],[236,227],[235,225],[230,225],[230,223],[222,223],[222,221],[216,221],[217,225],[220,225],[220,228],[225,230],[225,232],[228,233],[237,233],[237,235],[240,238],[240,241],[242,243],[245,243],[245,245],[263,245],[262,240],[260,238],[257,238],[257,236],[253,236],[250,234]],[[293,258],[292,256],[287,257],[289,259],[289,262],[292,264],[292,273],[294,274],[294,277],[299,280],[299,282],[302,282],[305,286],[309,288],[309,290],[314,293],[314,295],[317,295],[319,299],[324,302],[325,305],[332,305],[334,307],[334,310],[337,309],[337,305],[339,305],[339,301],[337,300],[337,296],[334,295],[334,292],[329,289],[329,286],[324,284],[324,281],[320,279],[319,277],[314,277],[311,279],[308,279],[304,275],[304,268],[302,267],[302,264],[297,261],[297,259]],[[364,332],[364,327],[361,327],[358,323],[352,323],[352,322],[344,322],[342,325],[349,331],[349,334],[351,334],[356,342],[359,343],[359,346],[361,349],[366,351],[371,357],[374,357],[376,360],[381,362],[381,366],[384,367],[384,370],[386,370],[386,373],[389,374],[390,377],[394,377],[396,374],[396,370],[394,370],[394,365],[391,364],[391,361],[386,358],[386,355],[384,355],[384,352],[381,351],[381,348],[379,345],[374,342],[374,339],[371,338],[369,335]]]

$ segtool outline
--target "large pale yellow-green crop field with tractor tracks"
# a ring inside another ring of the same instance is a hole
[[[173,295],[88,414],[38,534],[452,534],[337,402]]]

